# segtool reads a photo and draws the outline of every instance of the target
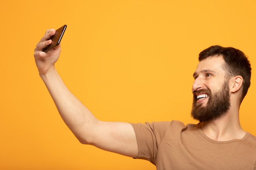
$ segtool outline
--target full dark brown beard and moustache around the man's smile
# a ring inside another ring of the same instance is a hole
[[[224,82],[222,88],[215,94],[207,88],[206,90],[197,91],[197,93],[207,93],[208,102],[205,106],[202,104],[197,104],[197,97],[193,93],[193,105],[191,110],[191,116],[193,119],[200,122],[211,121],[217,119],[221,115],[224,115],[230,108],[230,95],[228,82]]]

